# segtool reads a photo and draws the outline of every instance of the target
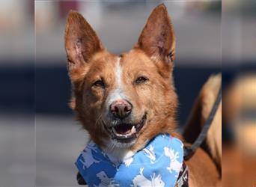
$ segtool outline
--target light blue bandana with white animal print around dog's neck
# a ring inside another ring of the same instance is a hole
[[[183,143],[157,135],[143,150],[123,161],[90,141],[76,161],[88,186],[175,186],[183,165]]]

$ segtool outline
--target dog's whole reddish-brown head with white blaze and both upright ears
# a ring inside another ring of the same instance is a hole
[[[139,147],[174,129],[175,40],[164,5],[150,14],[135,47],[121,55],[109,53],[88,22],[70,12],[65,47],[71,107],[97,144]]]

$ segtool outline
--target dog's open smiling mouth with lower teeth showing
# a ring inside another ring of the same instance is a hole
[[[113,139],[122,143],[127,143],[137,137],[138,132],[144,126],[146,119],[147,114],[144,114],[139,123],[118,123],[115,126],[110,127],[107,127],[104,124],[104,126],[107,131],[110,132]]]

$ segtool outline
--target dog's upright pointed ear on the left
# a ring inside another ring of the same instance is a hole
[[[65,28],[65,49],[68,70],[76,70],[88,63],[96,52],[103,49],[99,37],[85,18],[70,10]]]

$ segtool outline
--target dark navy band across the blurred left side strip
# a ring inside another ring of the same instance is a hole
[[[2,65],[0,85],[0,111],[34,113],[33,65]]]

